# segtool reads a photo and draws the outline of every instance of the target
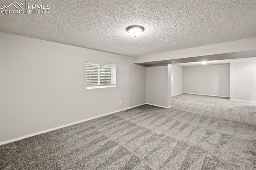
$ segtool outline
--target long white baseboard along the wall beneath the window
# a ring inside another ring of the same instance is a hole
[[[6,140],[4,142],[0,142],[0,145],[6,144],[6,143],[10,143],[10,142],[14,142],[14,141],[17,141],[17,140],[21,140],[21,139],[24,139],[24,138],[28,138],[28,137],[31,137],[31,136],[35,136],[35,135],[38,135],[38,134],[50,132],[52,130],[56,130],[56,129],[59,129],[59,128],[68,127],[68,126],[75,125],[75,124],[78,124],[78,123],[82,123],[82,122],[85,122],[85,121],[90,121],[90,120],[96,119],[98,117],[102,117],[102,116],[106,116],[106,115],[111,115],[113,113],[117,113],[117,112],[124,111],[124,110],[127,110],[127,109],[132,109],[134,107],[138,107],[138,106],[145,105],[145,104],[146,103],[143,103],[143,104],[140,104],[140,105],[136,105],[136,106],[128,107],[128,108],[125,108],[125,109],[121,109],[121,110],[118,110],[118,111],[114,111],[114,112],[106,113],[106,114],[103,114],[103,115],[99,115],[99,116],[91,117],[91,118],[88,118],[88,119],[84,119],[82,121],[77,121],[77,122],[74,122],[74,123],[69,123],[67,125],[62,125],[62,126],[59,126],[59,127],[50,128],[50,129],[47,129],[47,130],[43,130],[43,131],[40,131],[40,132],[28,134],[28,135],[21,136],[21,137],[18,137],[18,138],[14,138],[14,139],[11,139],[11,140]]]

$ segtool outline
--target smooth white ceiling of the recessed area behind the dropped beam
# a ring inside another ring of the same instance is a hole
[[[208,61],[206,64],[202,64],[201,61],[199,61],[199,62],[191,62],[191,63],[178,63],[174,65],[178,65],[182,67],[190,67],[190,66],[201,66],[201,65],[229,64],[230,62],[237,62],[237,61],[256,61],[256,57],[214,60],[214,61]]]

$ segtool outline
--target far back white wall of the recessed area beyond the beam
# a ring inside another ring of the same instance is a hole
[[[184,67],[183,92],[230,97],[230,64]]]

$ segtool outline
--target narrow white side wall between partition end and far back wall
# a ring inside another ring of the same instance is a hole
[[[172,96],[183,93],[183,67],[172,64],[174,82],[172,83]]]

